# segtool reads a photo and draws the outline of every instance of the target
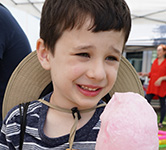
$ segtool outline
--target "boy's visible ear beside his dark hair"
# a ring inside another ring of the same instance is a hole
[[[50,70],[50,52],[44,45],[43,39],[38,39],[36,44],[37,57],[40,64],[46,70]]]

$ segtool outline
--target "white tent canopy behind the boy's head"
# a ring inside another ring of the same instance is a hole
[[[1,0],[40,18],[44,0]],[[132,15],[132,30],[126,51],[151,50],[166,44],[166,0],[126,0]]]

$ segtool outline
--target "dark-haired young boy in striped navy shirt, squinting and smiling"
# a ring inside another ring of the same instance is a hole
[[[23,149],[93,150],[101,99],[116,81],[130,32],[128,6],[124,0],[46,0],[40,26],[37,55],[53,92],[43,98],[49,103],[29,105]],[[73,115],[64,112],[71,109]],[[19,140],[16,106],[4,120],[0,149],[18,149]]]

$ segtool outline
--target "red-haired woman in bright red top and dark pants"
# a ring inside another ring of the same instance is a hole
[[[163,120],[166,114],[166,45],[157,47],[157,58],[154,60],[151,71],[149,73],[139,73],[141,76],[150,78],[145,98],[150,103],[154,96],[158,96],[160,100],[160,122],[159,128],[163,127]]]

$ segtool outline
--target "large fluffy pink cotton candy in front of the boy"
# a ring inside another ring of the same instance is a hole
[[[115,93],[101,115],[96,150],[158,150],[157,115],[139,94]]]

